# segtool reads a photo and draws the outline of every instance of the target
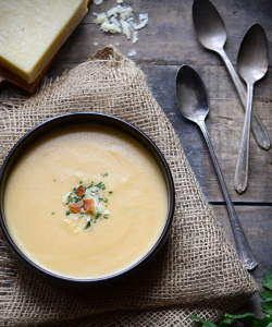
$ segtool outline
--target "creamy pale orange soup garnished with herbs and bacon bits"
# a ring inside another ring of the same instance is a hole
[[[60,129],[14,166],[4,214],[17,247],[63,277],[113,275],[143,258],[166,220],[168,194],[151,155],[99,125]]]

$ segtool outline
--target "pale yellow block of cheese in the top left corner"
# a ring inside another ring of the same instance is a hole
[[[87,0],[1,0],[0,64],[33,83],[87,11]]]

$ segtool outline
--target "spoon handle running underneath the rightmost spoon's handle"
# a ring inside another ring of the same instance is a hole
[[[219,53],[222,57],[228,72],[233,78],[233,83],[236,86],[240,101],[242,101],[244,108],[246,109],[246,107],[247,107],[246,88],[243,85],[239,76],[237,75],[232,62],[227,58],[224,49],[220,50]],[[259,146],[261,148],[268,150],[271,146],[270,137],[269,137],[269,134],[268,134],[259,114],[257,113],[257,111],[254,108],[252,108],[252,118],[251,118],[251,130],[252,130],[252,133],[254,133],[255,138],[256,138],[257,143],[259,144]]]

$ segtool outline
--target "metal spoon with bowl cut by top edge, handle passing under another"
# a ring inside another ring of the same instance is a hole
[[[209,49],[218,52],[223,59],[238,92],[240,101],[246,109],[247,94],[246,88],[240,82],[232,62],[224,51],[226,41],[226,28],[224,22],[209,0],[194,0],[193,3],[193,21],[200,44]],[[259,146],[263,149],[269,149],[271,142],[263,126],[260,117],[252,108],[251,130]]]

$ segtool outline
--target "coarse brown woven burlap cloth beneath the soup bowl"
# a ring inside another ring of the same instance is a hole
[[[257,291],[255,281],[217,222],[171,123],[144,73],[116,50],[104,48],[57,81],[47,81],[29,99],[2,105],[1,164],[28,130],[75,111],[122,118],[159,146],[175,182],[172,232],[159,256],[126,284],[84,294],[34,276],[14,258],[0,232],[1,326],[195,326],[186,319],[189,314],[217,322],[249,299]]]

